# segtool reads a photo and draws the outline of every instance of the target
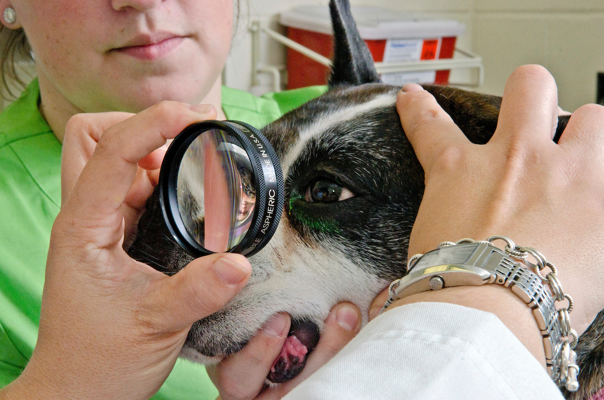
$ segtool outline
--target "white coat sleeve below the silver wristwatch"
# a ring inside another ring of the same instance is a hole
[[[449,303],[414,303],[371,321],[285,399],[564,397],[494,314]]]

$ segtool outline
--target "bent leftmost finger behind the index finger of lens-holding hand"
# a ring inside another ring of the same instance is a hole
[[[100,112],[97,114],[76,114],[69,118],[65,126],[61,156],[61,201],[65,204],[71,190],[90,160],[98,140],[110,126],[134,114],[129,112]]]

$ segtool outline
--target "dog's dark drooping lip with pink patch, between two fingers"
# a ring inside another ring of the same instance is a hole
[[[272,363],[267,379],[283,383],[294,379],[306,364],[306,357],[319,341],[319,329],[310,321],[293,320],[281,353]]]

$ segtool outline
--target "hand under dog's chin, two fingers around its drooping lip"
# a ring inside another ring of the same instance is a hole
[[[272,363],[289,332],[289,315],[275,315],[248,344],[216,366],[208,375],[222,400],[280,399],[336,355],[361,329],[361,312],[352,303],[339,303],[325,321],[321,338],[300,375],[284,384],[265,385]]]

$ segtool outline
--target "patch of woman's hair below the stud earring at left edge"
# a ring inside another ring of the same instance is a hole
[[[24,66],[32,63],[31,46],[25,31],[0,25],[0,91],[5,100],[14,100],[25,89],[33,75]]]

